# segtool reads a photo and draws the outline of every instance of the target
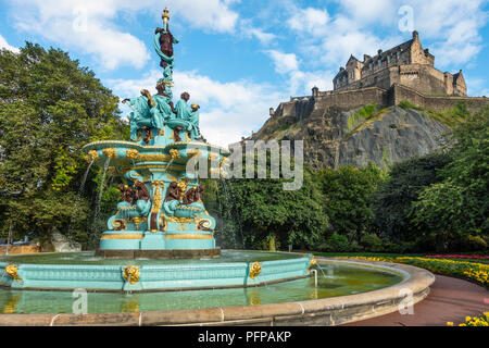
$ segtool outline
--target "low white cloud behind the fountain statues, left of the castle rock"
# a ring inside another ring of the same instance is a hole
[[[160,77],[161,72],[151,71],[141,79],[112,79],[106,83],[115,95],[124,99],[139,96],[142,88],[154,92],[155,82]],[[174,80],[174,102],[181,92],[188,91],[190,101],[201,105],[202,134],[209,142],[223,147],[249,136],[252,129],[258,130],[268,119],[268,109],[285,99],[285,95],[273,86],[244,79],[222,83],[198,72],[175,72]]]

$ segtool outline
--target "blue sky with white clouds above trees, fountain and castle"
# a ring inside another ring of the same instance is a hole
[[[155,92],[165,5],[179,40],[174,102],[190,94],[215,145],[256,132],[290,96],[333,89],[350,54],[375,55],[413,29],[437,69],[463,70],[468,95],[489,96],[489,0],[0,0],[0,48],[60,48],[121,99]]]

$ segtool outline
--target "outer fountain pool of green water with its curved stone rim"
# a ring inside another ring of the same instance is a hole
[[[319,281],[318,288],[310,277],[240,289],[89,294],[84,315],[70,314],[71,293],[0,290],[0,312],[12,313],[0,315],[0,325],[338,325],[398,311],[409,293],[414,304],[435,281],[430,272],[405,264],[334,259],[318,264],[337,274]],[[341,272],[344,268],[351,272]]]

